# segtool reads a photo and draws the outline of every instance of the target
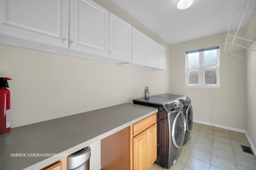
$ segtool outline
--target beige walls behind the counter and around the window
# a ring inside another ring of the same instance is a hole
[[[172,92],[192,99],[194,119],[246,129],[256,144],[254,103],[245,103],[246,61],[224,54],[226,33],[169,45],[112,0],[94,0],[166,47],[166,70],[150,71],[68,55],[0,45],[0,76],[12,78],[11,125],[18,127]],[[220,45],[220,89],[185,88],[185,52]],[[249,62],[252,61],[252,62]],[[255,52],[248,52],[248,94],[256,94]],[[116,99],[110,100],[110,94]],[[248,95],[255,101],[255,95]],[[245,118],[245,108],[248,114]],[[247,125],[246,125],[247,123]],[[90,145],[90,168],[100,164],[100,142]]]

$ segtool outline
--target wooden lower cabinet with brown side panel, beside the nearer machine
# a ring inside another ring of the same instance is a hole
[[[156,113],[101,140],[102,170],[148,170],[157,154]]]

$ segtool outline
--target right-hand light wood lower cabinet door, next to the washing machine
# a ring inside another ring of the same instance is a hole
[[[147,129],[147,167],[155,162],[157,156],[156,124]],[[147,168],[147,169],[148,169]]]

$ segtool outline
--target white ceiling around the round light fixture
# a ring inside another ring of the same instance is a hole
[[[233,2],[237,1],[194,0],[190,8],[179,10],[178,0],[113,0],[170,44],[227,32]],[[240,18],[237,16],[238,21]],[[230,30],[236,27],[231,25]]]

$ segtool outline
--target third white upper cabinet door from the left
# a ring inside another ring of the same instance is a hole
[[[109,12],[109,57],[132,62],[132,25]]]

